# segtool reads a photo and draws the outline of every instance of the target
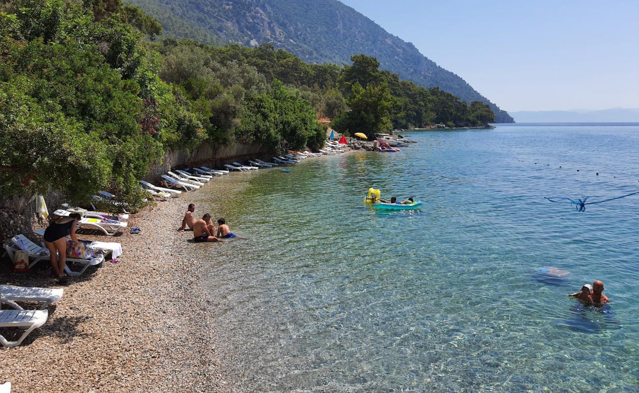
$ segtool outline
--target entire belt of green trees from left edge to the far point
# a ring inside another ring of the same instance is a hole
[[[0,206],[47,190],[84,204],[101,189],[139,204],[137,180],[166,151],[319,148],[318,116],[351,133],[494,120],[364,54],[313,65],[268,44],[144,38],[161,31],[119,0],[0,2]]]

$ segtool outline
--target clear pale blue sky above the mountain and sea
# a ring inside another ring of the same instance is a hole
[[[639,1],[341,0],[506,111],[639,108]]]

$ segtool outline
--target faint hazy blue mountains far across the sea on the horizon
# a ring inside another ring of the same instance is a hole
[[[636,123],[639,108],[612,108],[601,111],[519,111],[510,112],[517,123]]]

